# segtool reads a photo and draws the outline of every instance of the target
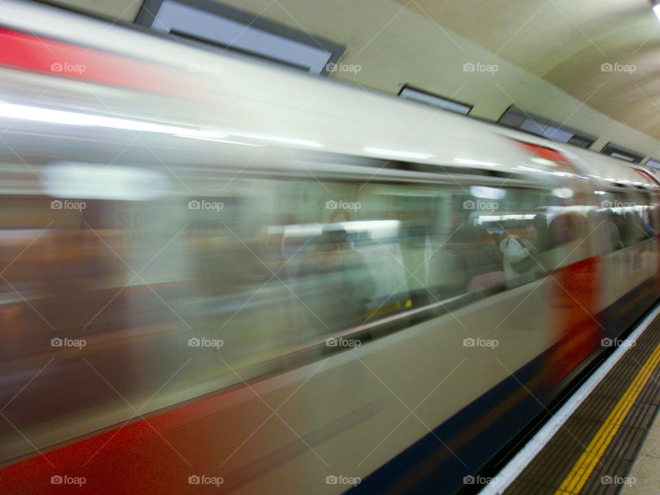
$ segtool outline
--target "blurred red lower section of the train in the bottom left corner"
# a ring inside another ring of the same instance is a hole
[[[235,470],[236,466],[230,467],[232,463],[228,463],[222,470],[221,465],[241,445],[245,432],[235,425],[234,428],[219,428],[219,425],[245,419],[244,415],[236,418],[234,412],[241,409],[241,403],[245,404],[246,396],[254,399],[252,391],[239,386],[8,465],[0,470],[0,492],[3,495],[222,493],[223,488],[232,484],[235,475],[231,476],[229,470]],[[265,419],[267,414],[261,412]],[[241,448],[250,452],[254,446]],[[189,483],[189,476],[201,474],[222,477],[224,483],[219,487]],[[57,483],[58,479],[52,476],[61,476],[64,482]],[[85,483],[74,483],[83,478]]]

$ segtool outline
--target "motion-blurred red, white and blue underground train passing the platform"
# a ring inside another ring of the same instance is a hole
[[[453,493],[658,297],[644,170],[0,12],[3,494]]]

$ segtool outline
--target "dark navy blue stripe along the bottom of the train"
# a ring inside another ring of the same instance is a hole
[[[650,287],[652,287],[651,290]],[[657,300],[659,279],[649,278],[632,292],[617,300],[602,311],[597,319],[606,329],[606,336],[621,335]],[[360,485],[347,490],[347,494],[453,494],[463,487],[463,478],[477,472],[508,441],[537,417],[558,390],[543,390],[542,384],[531,388],[529,382],[542,372],[547,352],[522,366],[514,375],[506,378],[490,391],[478,397],[450,417],[447,421],[426,434],[408,449],[382,465],[362,480]],[[522,388],[520,383],[533,393]],[[557,388],[564,388],[562,382]],[[522,394],[520,400],[514,395]],[[507,406],[507,402],[512,403]],[[515,403],[515,404],[514,404]],[[505,408],[500,417],[487,426],[476,437],[460,445],[456,441],[461,434],[477,428],[477,423],[497,408]],[[417,421],[410,417],[407,421]],[[452,438],[454,441],[452,441]],[[441,441],[452,448],[454,454]],[[452,443],[456,443],[456,447]],[[460,460],[459,460],[460,459]]]

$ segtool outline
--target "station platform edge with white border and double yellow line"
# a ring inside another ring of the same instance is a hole
[[[483,495],[660,494],[660,307],[482,491]]]

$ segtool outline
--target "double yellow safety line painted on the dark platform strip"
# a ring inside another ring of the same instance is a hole
[[[566,493],[577,494],[584,487],[584,484],[589,476],[591,476],[591,473],[599,463],[600,458],[608,448],[608,445],[610,445],[615,434],[621,428],[621,423],[630,411],[630,408],[635,404],[637,397],[639,397],[648,380],[650,380],[653,370],[659,362],[660,344],[656,346],[646,362],[641,366],[641,369],[635,376],[635,380],[632,380],[624,395],[621,395],[613,410],[596,432],[591,442],[586,446],[586,450],[582,452],[580,459],[577,459],[569,474],[564,478],[562,485],[555,492],[555,495]]]

